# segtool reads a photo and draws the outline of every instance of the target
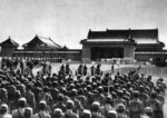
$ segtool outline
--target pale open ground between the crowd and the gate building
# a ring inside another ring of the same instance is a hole
[[[58,73],[60,66],[62,63],[51,63],[52,66],[52,72]],[[66,63],[65,63],[66,65]],[[78,69],[79,63],[69,63],[70,69],[72,70],[72,73],[75,75],[75,71]],[[90,67],[92,65],[87,65],[88,67],[88,75],[90,75]],[[95,65],[96,67],[96,65]],[[139,67],[139,65],[120,65],[117,66],[115,65],[115,73],[116,75],[118,71],[121,73],[128,73],[130,70],[135,70]],[[37,71],[41,70],[41,68],[35,68],[33,73],[36,75]],[[111,65],[101,65],[101,71],[107,72],[111,70]],[[141,65],[141,68],[139,70],[139,73],[145,73],[146,76],[153,76],[153,78],[156,80],[157,78],[163,77],[167,83],[167,67],[156,67],[156,66],[145,66]]]

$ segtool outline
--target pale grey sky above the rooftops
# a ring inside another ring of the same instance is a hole
[[[0,0],[0,42],[36,35],[81,48],[89,29],[159,29],[167,45],[167,0]]]

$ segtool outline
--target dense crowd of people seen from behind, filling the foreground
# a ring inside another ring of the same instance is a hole
[[[87,75],[80,65],[77,79],[70,66],[58,73],[0,71],[0,118],[164,118],[166,85],[138,70],[111,78],[109,72]],[[68,72],[67,72],[68,71]]]

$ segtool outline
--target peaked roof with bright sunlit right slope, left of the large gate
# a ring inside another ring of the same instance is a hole
[[[58,43],[56,43],[53,40],[50,38],[45,38],[45,37],[39,37],[36,36],[31,41],[28,43],[24,43],[23,46],[36,46],[36,45],[45,45],[47,47],[52,47],[52,48],[61,48]]]

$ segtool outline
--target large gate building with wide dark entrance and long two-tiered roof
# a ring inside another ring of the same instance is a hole
[[[159,41],[158,29],[127,29],[91,31],[82,45],[82,61],[97,61],[108,58],[131,58],[137,61],[163,62],[167,51]]]

